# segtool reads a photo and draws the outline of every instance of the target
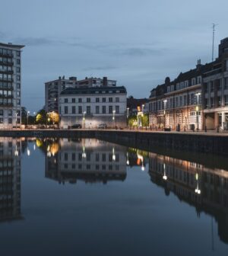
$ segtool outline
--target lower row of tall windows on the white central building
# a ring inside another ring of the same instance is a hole
[[[113,114],[113,106],[109,106],[108,110],[106,109],[106,106],[96,106],[95,107],[95,114]],[[115,106],[116,114],[119,114],[119,106]],[[82,106],[78,106],[78,113],[76,113],[76,106],[71,107],[71,113],[68,113],[68,106],[64,107],[64,114],[82,114]],[[86,107],[86,114],[92,114],[91,113],[91,107]]]

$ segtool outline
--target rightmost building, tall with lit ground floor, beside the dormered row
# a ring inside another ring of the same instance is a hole
[[[228,126],[228,37],[220,41],[218,57],[204,72],[202,104],[204,127],[208,130]]]

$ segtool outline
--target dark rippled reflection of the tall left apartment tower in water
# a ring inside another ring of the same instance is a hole
[[[0,138],[0,221],[21,219],[21,141]]]

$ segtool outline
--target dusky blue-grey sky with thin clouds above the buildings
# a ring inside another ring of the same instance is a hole
[[[227,0],[0,0],[0,42],[24,44],[22,105],[44,105],[44,82],[103,77],[128,95],[150,90],[198,59],[211,62],[228,37]]]

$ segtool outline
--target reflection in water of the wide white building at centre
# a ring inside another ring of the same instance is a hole
[[[126,149],[97,139],[61,139],[59,152],[47,153],[46,178],[60,183],[124,181]]]

